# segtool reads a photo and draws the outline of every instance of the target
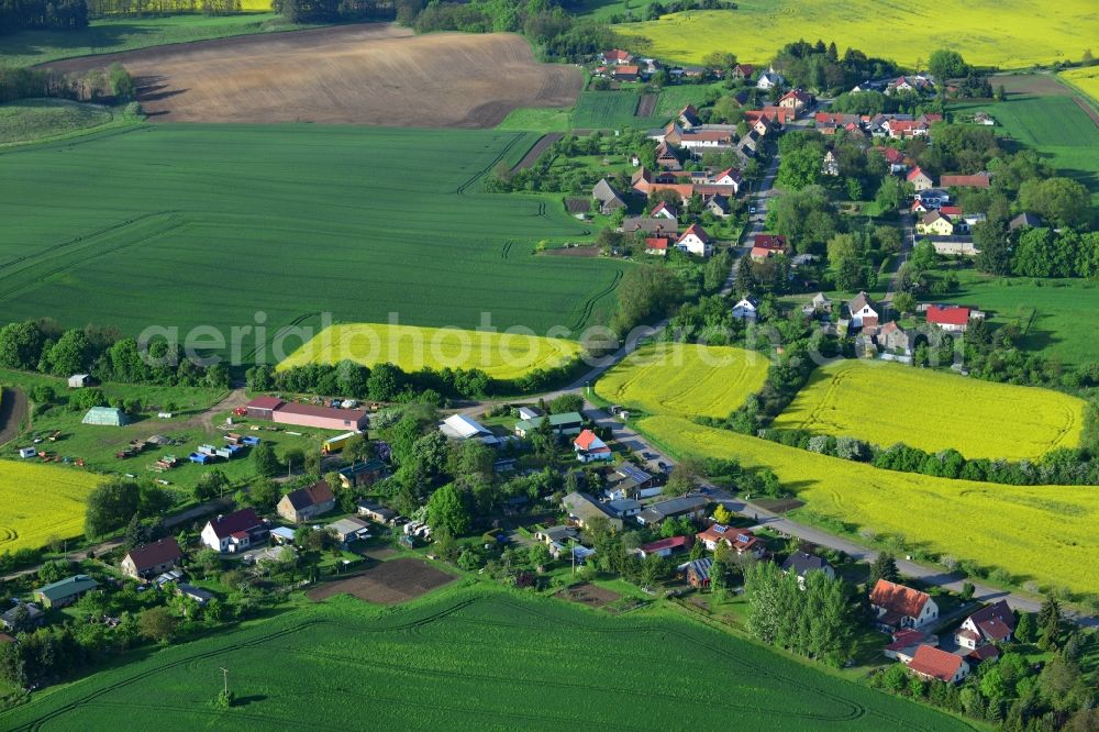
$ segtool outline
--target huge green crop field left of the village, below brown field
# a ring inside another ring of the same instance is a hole
[[[606,321],[629,265],[535,257],[539,240],[591,232],[552,197],[480,192],[485,171],[535,140],[157,124],[0,153],[0,310],[130,334],[212,325],[226,339],[257,322],[314,328],[321,313],[539,333]],[[56,203],[48,214],[43,201]]]

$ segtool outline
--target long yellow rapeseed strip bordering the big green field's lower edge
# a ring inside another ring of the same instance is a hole
[[[278,368],[349,359],[365,366],[388,362],[406,371],[425,366],[479,368],[492,378],[513,379],[539,368],[563,366],[582,351],[576,341],[540,335],[352,323],[324,329]]]

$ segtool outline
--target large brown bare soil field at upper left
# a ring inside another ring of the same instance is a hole
[[[149,119],[492,127],[517,107],[571,107],[579,69],[539,64],[518,35],[412,36],[389,24],[238,36],[49,64],[121,63]]]

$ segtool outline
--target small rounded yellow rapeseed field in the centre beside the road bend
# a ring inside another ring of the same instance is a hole
[[[651,414],[724,419],[763,387],[768,365],[755,351],[656,343],[604,374],[596,393]]]

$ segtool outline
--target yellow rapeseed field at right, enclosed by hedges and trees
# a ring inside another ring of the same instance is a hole
[[[1048,389],[868,361],[818,368],[774,426],[903,442],[968,458],[1037,459],[1079,445],[1085,402]]]

